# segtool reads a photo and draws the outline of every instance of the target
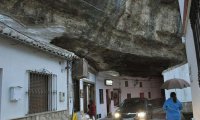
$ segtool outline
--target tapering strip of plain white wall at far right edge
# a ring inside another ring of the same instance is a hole
[[[190,79],[191,79],[191,90],[192,90],[192,104],[193,104],[193,115],[195,120],[200,120],[200,87],[198,83],[198,68],[196,52],[194,47],[194,38],[191,29],[190,22],[187,24],[186,38],[186,52],[189,64]]]

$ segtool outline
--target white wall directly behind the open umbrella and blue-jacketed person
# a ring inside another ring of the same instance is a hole
[[[167,81],[169,79],[173,78],[180,78],[186,80],[188,83],[190,83],[190,76],[189,76],[189,68],[188,64],[183,64],[174,68],[169,68],[168,70],[165,70],[163,73],[164,81]],[[191,102],[192,101],[192,95],[191,95],[191,88],[184,88],[184,89],[172,89],[172,90],[165,90],[165,97],[168,99],[170,97],[171,92],[176,92],[177,98],[181,102]]]

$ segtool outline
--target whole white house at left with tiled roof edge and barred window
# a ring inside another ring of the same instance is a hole
[[[72,77],[66,68],[75,55],[3,22],[0,33],[0,120],[67,119]]]

